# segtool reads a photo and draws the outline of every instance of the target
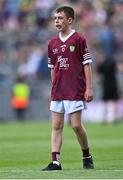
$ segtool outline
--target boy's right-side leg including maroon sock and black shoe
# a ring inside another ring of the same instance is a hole
[[[81,124],[81,111],[77,111],[71,114],[71,126],[77,136],[81,150],[83,152],[83,168],[93,169],[92,156],[89,153],[88,137],[84,126]]]

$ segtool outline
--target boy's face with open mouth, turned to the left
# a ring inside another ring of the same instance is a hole
[[[59,32],[66,32],[72,21],[72,18],[68,18],[63,11],[54,14],[54,23]]]

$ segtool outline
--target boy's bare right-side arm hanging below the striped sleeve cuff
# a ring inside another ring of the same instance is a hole
[[[84,65],[84,72],[86,78],[86,91],[85,91],[85,101],[90,102],[93,100],[93,87],[92,87],[92,70],[91,65]]]

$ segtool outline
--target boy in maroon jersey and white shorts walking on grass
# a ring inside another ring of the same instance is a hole
[[[64,127],[64,113],[70,114],[71,126],[83,153],[83,168],[94,168],[89,152],[87,133],[81,125],[81,111],[85,102],[93,99],[92,75],[86,41],[71,28],[74,10],[63,6],[54,14],[59,35],[48,44],[48,67],[51,68],[52,162],[43,171],[61,170],[60,150]]]

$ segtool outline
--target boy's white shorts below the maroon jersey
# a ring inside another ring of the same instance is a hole
[[[51,101],[50,110],[58,113],[70,114],[82,109],[86,109],[86,103],[84,101]]]

